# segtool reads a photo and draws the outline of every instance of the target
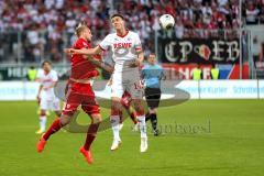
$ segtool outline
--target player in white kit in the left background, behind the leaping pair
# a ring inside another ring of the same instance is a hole
[[[54,86],[58,80],[57,73],[52,69],[52,65],[48,61],[42,63],[42,69],[37,72],[36,81],[40,81],[40,88],[36,99],[40,103],[40,130],[36,134],[42,134],[46,129],[46,112],[52,110],[57,117],[61,116],[59,99],[54,94]]]

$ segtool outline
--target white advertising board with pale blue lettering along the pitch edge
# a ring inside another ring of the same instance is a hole
[[[190,99],[264,98],[264,80],[183,80],[174,86],[189,94]],[[0,81],[1,100],[35,100],[38,82]],[[177,91],[178,92],[178,91]],[[180,94],[180,92],[179,92]],[[100,94],[97,92],[100,97]],[[109,95],[108,95],[109,96]],[[162,99],[166,99],[163,95]]]

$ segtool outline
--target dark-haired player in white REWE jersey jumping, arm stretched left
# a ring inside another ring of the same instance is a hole
[[[132,105],[136,111],[136,119],[141,130],[141,152],[147,150],[147,136],[145,127],[145,113],[142,103],[143,86],[140,79],[140,66],[144,61],[144,54],[139,34],[129,31],[121,14],[113,14],[111,23],[116,33],[108,34],[102,42],[94,48],[73,50],[67,48],[67,53],[94,55],[111,47],[114,61],[114,70],[111,85],[111,123],[113,131],[113,143],[111,151],[119,147],[121,139],[119,135],[119,110],[122,108],[120,100],[127,90],[132,98]]]

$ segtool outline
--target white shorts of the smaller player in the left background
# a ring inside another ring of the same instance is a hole
[[[61,110],[58,98],[42,98],[40,106],[42,110],[51,110],[51,111]]]

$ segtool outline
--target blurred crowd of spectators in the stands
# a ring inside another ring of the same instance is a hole
[[[79,22],[91,28],[97,43],[111,32],[109,16],[114,12],[139,32],[147,54],[154,51],[161,14],[175,16],[177,38],[219,37],[219,30],[230,30],[232,37],[240,25],[264,23],[264,0],[0,0],[0,62],[7,59],[6,52],[13,54],[13,62],[18,55],[23,62],[40,62],[41,54],[48,53],[58,63]]]

